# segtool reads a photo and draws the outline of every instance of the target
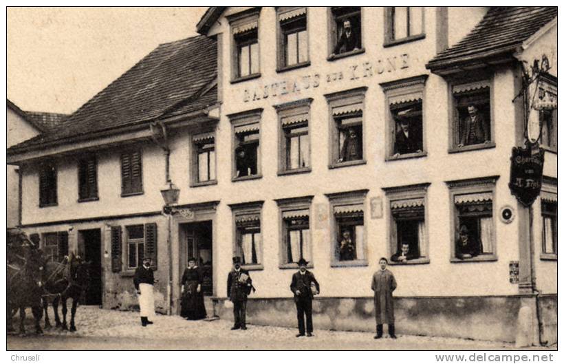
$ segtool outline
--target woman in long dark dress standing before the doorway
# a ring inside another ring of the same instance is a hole
[[[188,259],[188,267],[182,275],[182,301],[180,316],[188,320],[206,318],[204,292],[202,292],[202,270],[196,265],[196,259]]]

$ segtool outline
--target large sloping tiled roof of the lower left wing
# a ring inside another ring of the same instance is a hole
[[[217,77],[217,47],[206,36],[164,43],[142,58],[52,131],[8,149],[8,154],[42,149],[54,142],[142,125],[177,105],[195,103]],[[217,92],[206,94],[215,103]]]

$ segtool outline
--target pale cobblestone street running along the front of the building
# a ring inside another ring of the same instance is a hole
[[[17,328],[17,317],[14,327]],[[67,317],[67,319],[69,319]],[[53,312],[50,308],[50,320]],[[42,320],[43,325],[43,320]],[[228,320],[186,321],[179,316],[158,315],[154,325],[143,328],[138,312],[102,310],[80,306],[77,332],[58,328],[34,334],[8,336],[9,350],[511,350],[510,343],[399,335],[375,341],[367,332],[316,330],[314,337],[296,338],[294,328],[248,325],[231,331]],[[26,330],[34,332],[31,312]],[[150,340],[144,340],[150,339]],[[241,344],[244,342],[245,344]]]

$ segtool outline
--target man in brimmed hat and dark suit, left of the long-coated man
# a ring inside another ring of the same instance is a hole
[[[305,259],[300,258],[298,266],[300,270],[292,275],[292,284],[290,284],[290,290],[294,292],[294,301],[298,310],[299,334],[296,337],[304,336],[306,332],[307,336],[313,336],[312,299],[314,295],[319,293],[319,283],[315,279],[314,274],[306,269],[307,261]],[[305,327],[303,314],[305,314]]]

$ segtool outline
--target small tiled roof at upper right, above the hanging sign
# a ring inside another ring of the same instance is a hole
[[[428,64],[431,70],[514,52],[523,41],[558,15],[556,7],[494,7],[475,28]]]

